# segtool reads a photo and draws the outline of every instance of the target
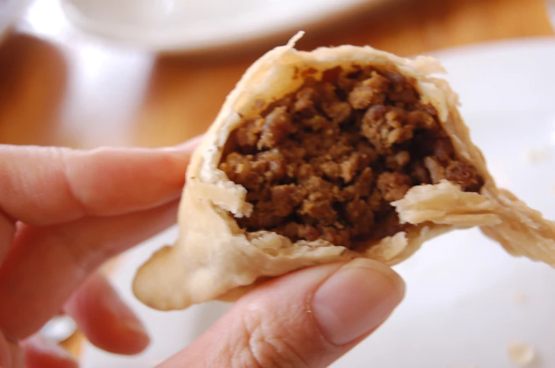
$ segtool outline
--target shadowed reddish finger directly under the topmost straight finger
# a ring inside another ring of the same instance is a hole
[[[23,226],[0,268],[0,329],[11,340],[29,336],[100,264],[175,223],[177,205],[50,227]]]

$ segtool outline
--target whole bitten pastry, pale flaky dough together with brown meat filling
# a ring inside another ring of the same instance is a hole
[[[139,269],[136,297],[162,310],[234,300],[320,263],[393,265],[474,226],[555,265],[554,223],[496,187],[436,59],[296,40],[228,95],[187,170],[179,239]]]

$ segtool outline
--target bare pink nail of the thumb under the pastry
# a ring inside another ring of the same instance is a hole
[[[404,297],[391,268],[356,259],[339,268],[312,297],[312,313],[330,343],[344,345],[382,324]]]

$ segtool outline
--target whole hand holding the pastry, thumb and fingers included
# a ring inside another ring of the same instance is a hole
[[[162,149],[0,145],[0,367],[74,368],[37,331],[69,314],[91,343],[132,355],[150,342],[98,267],[176,221],[198,139]],[[390,268],[358,260],[264,283],[160,364],[327,367],[404,295]]]

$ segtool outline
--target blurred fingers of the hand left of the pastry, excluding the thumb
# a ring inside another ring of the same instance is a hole
[[[143,325],[96,270],[175,222],[195,145],[0,145],[0,367],[77,367],[62,348],[34,335],[60,311],[99,348],[146,348]]]

